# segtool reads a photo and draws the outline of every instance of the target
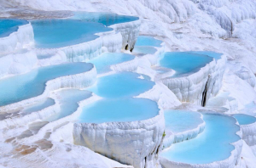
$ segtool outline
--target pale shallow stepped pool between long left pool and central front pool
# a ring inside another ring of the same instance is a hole
[[[55,115],[49,116],[47,121],[51,122],[54,120],[61,119],[67,115],[72,115],[79,108],[79,102],[86,98],[91,97],[91,92],[79,90],[79,89],[63,89],[58,92],[60,99],[61,110]]]

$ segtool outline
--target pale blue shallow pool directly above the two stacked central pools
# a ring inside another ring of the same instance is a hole
[[[95,59],[90,59],[88,62],[96,66],[98,74],[110,71],[110,65],[119,64],[125,61],[134,59],[135,57],[127,53],[103,53]]]

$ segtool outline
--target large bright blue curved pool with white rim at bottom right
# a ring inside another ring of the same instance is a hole
[[[170,148],[166,148],[160,155],[160,164],[163,167],[231,168],[240,165],[243,142],[241,128],[236,120],[220,113],[203,113],[206,121],[205,131],[194,139],[174,143]],[[215,135],[217,139],[214,139]],[[207,144],[210,141],[212,143]]]

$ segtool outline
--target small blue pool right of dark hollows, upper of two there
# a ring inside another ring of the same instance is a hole
[[[161,47],[162,41],[155,39],[153,36],[138,36],[135,46]]]

